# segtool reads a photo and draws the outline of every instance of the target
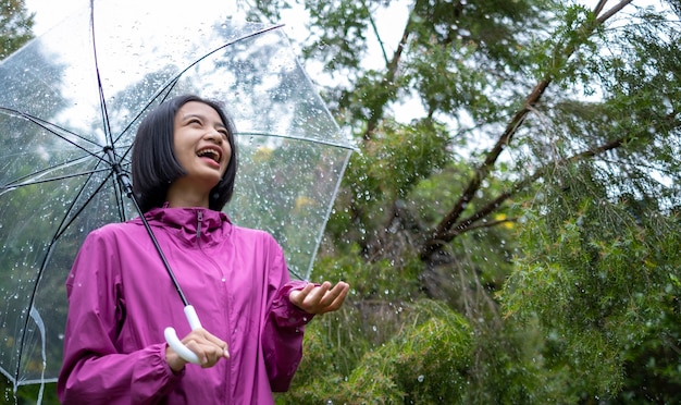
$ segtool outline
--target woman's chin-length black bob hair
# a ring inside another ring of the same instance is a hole
[[[202,102],[214,109],[230,134],[232,158],[220,183],[210,192],[208,208],[221,211],[232,198],[237,167],[234,123],[216,101],[184,95],[159,105],[137,128],[132,156],[133,192],[143,212],[162,207],[171,183],[186,174],[175,158],[173,145],[175,114],[189,101]]]

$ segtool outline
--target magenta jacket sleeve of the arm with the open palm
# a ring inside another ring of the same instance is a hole
[[[270,306],[262,335],[262,348],[270,386],[274,392],[288,390],[302,357],[305,324],[313,315],[296,307],[288,299],[293,290],[302,290],[307,281],[289,281],[283,253],[277,255],[269,273]]]

